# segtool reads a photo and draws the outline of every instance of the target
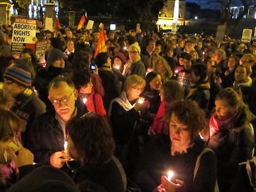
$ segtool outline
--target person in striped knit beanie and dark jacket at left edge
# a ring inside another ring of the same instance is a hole
[[[4,91],[15,99],[11,111],[22,120],[22,143],[27,147],[27,135],[33,120],[45,113],[45,104],[31,88],[32,75],[25,64],[16,64],[4,73]]]

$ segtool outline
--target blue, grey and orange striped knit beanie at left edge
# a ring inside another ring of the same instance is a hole
[[[32,83],[31,72],[25,64],[9,67],[4,73],[4,79],[17,83],[24,88],[27,88]]]

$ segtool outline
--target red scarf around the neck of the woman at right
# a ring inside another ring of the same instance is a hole
[[[211,115],[211,118],[209,120],[210,137],[215,135],[215,133],[220,131],[221,128],[223,127],[233,127],[233,120],[236,117],[236,114],[237,112],[234,112],[233,115],[231,115],[225,120],[220,120],[216,112],[213,115]]]

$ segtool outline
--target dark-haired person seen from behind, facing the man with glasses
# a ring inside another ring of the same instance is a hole
[[[100,115],[88,112],[67,123],[67,151],[82,163],[75,171],[74,182],[92,182],[106,191],[125,191],[126,177],[122,165],[113,156],[111,127]],[[82,184],[84,185],[84,184]]]

